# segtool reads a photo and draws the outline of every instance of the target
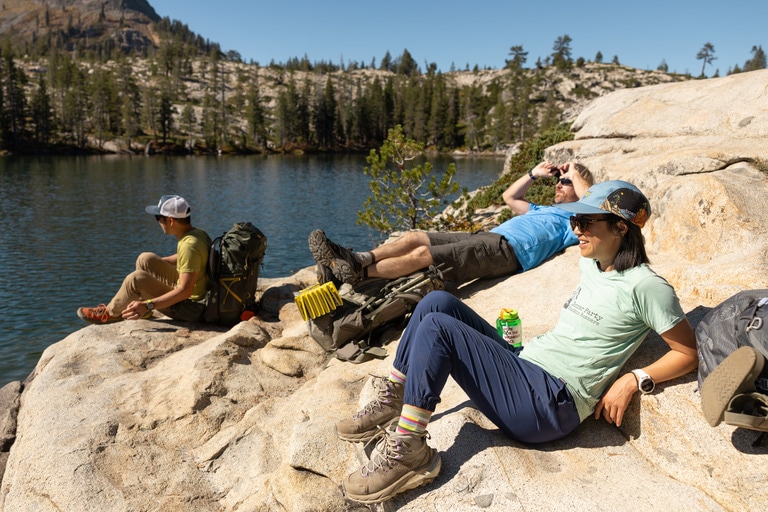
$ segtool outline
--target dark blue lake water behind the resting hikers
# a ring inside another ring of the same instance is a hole
[[[492,183],[503,161],[456,164],[469,190]],[[377,233],[358,226],[370,195],[362,155],[247,157],[0,157],[0,387],[23,380],[50,344],[86,324],[80,306],[107,302],[142,251],[175,252],[144,207],[184,196],[192,221],[218,236],[248,220],[268,237],[261,275],[314,264],[309,233],[369,249]]]

